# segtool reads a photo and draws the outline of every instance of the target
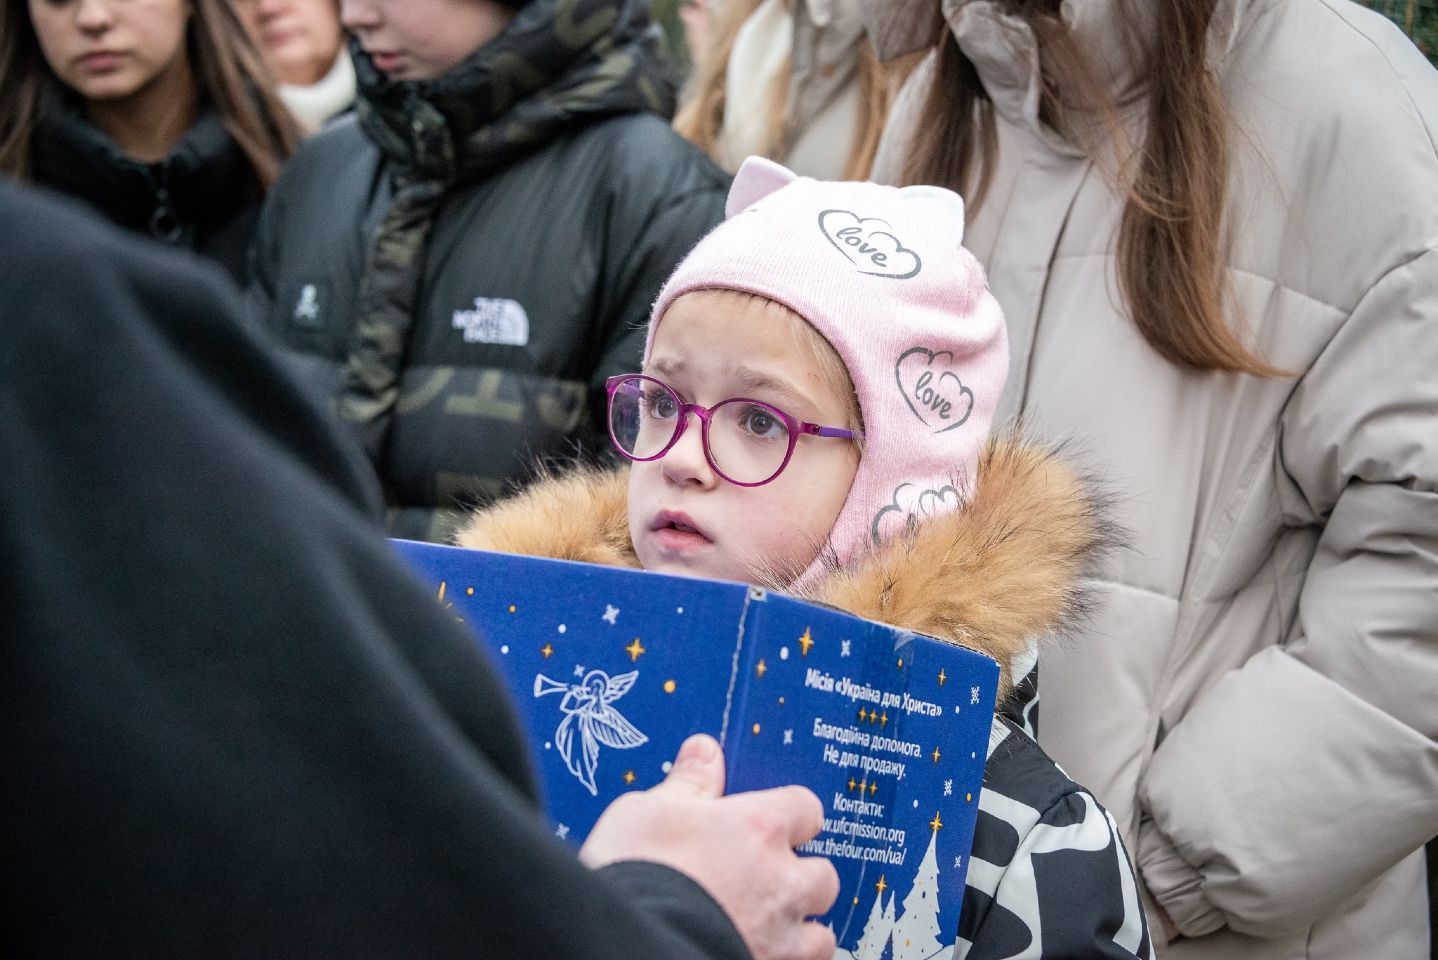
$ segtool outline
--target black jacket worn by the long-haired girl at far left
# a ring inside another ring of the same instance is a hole
[[[170,155],[125,155],[81,106],[46,96],[30,147],[30,177],[78,197],[111,221],[210,257],[239,282],[265,191],[219,114],[206,111]]]

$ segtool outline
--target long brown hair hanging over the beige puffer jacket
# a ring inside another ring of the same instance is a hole
[[[1061,20],[1060,0],[1005,6],[1038,42],[1041,119],[1106,167],[1126,197],[1119,285],[1139,332],[1178,366],[1283,377],[1225,319],[1232,306],[1224,267],[1228,114],[1205,59],[1214,0],[1142,1],[1155,4],[1153,39],[1140,45],[1125,36],[1146,78],[1142,144],[1125,134],[1113,95]],[[994,105],[953,34],[943,29],[936,42],[933,85],[902,178],[966,190],[976,208],[994,171]]]

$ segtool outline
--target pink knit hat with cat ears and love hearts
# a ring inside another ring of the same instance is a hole
[[[961,247],[963,200],[939,187],[824,183],[758,157],[726,220],[674,270],[650,315],[644,359],[676,297],[754,293],[789,308],[848,368],[864,454],[828,549],[802,591],[926,517],[959,506],[1008,374],[1004,315]]]

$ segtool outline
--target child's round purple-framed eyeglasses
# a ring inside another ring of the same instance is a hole
[[[640,463],[669,453],[689,425],[689,414],[703,424],[705,460],[738,487],[762,487],[784,473],[800,435],[856,440],[843,427],[820,427],[795,420],[772,404],[731,397],[713,407],[686,404],[653,377],[621,374],[604,382],[610,397],[610,438],[621,454]]]

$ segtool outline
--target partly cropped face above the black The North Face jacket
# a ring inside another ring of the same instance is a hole
[[[341,0],[339,19],[391,80],[427,80],[495,39],[515,13],[493,0]]]

